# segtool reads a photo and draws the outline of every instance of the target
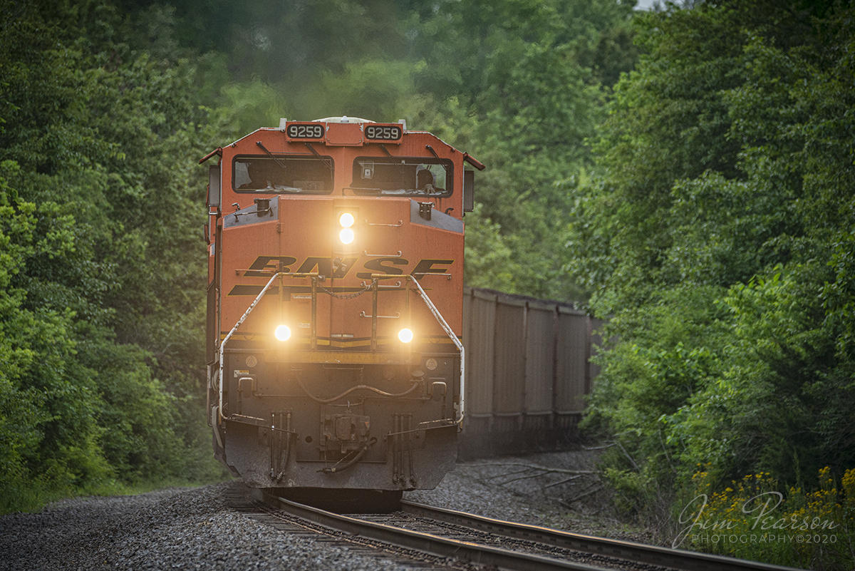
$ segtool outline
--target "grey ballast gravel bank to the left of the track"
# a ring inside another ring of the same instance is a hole
[[[407,569],[284,534],[228,507],[229,484],[54,503],[0,518],[0,569]]]

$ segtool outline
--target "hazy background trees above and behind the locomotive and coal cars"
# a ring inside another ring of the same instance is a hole
[[[221,51],[218,101],[240,132],[333,115],[406,119],[489,168],[467,217],[467,283],[574,299],[557,186],[593,163],[604,93],[637,57],[633,3],[174,3],[180,34]],[[156,6],[150,11],[156,10]]]

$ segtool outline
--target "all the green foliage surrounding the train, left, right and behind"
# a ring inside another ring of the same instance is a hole
[[[674,524],[702,480],[725,513],[728,482],[765,474],[795,513],[849,474],[827,511],[848,509],[852,3],[0,8],[2,509],[221,474],[196,160],[331,115],[404,118],[487,164],[470,285],[610,319],[586,423],[623,509]]]

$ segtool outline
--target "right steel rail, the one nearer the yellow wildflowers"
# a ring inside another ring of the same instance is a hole
[[[747,561],[687,551],[668,549],[657,545],[637,544],[620,539],[605,539],[581,533],[563,532],[548,527],[531,526],[512,521],[494,520],[481,515],[467,514],[452,509],[434,508],[421,503],[401,501],[401,509],[413,515],[445,521],[482,532],[496,533],[514,539],[527,539],[541,544],[555,545],[564,549],[584,551],[597,555],[617,557],[628,561],[648,563],[662,567],[687,569],[689,571],[799,571],[769,563]]]

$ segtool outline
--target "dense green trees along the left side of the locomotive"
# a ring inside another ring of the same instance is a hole
[[[195,67],[109,5],[3,3],[0,509],[220,477],[203,444]]]

